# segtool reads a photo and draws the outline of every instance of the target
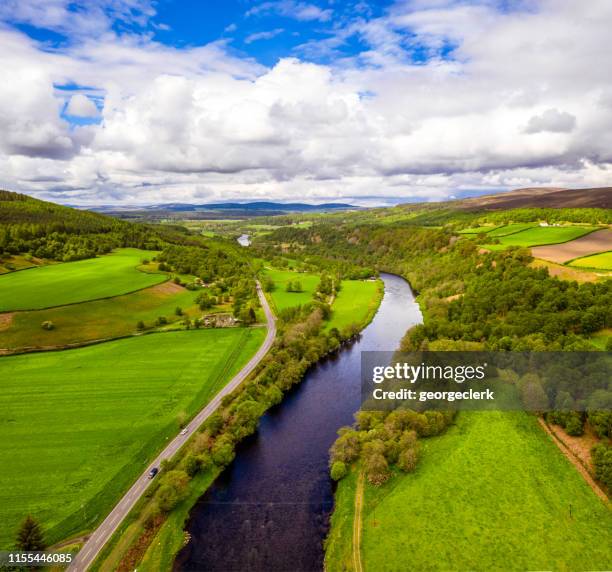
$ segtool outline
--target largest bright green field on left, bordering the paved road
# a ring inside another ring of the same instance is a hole
[[[264,336],[192,330],[0,358],[0,548],[29,513],[50,542],[99,522]]]

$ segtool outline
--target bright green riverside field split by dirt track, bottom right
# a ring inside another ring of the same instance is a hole
[[[366,486],[366,570],[609,570],[612,514],[520,412],[462,413],[417,470]],[[351,570],[354,475],[336,493],[329,572]],[[571,515],[570,515],[571,505]]]

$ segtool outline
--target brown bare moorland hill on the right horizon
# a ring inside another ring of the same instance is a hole
[[[612,208],[612,187],[561,189],[525,188],[456,202],[461,209],[498,210],[516,208]]]

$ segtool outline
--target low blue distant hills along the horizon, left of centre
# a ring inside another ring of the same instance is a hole
[[[323,203],[311,205],[307,203],[277,203],[270,201],[255,201],[247,203],[208,203],[192,205],[188,203],[167,203],[147,206],[98,206],[88,207],[96,212],[103,212],[126,219],[162,219],[178,218],[189,214],[197,219],[247,218],[253,216],[274,216],[289,213],[336,212],[341,210],[356,210],[360,207],[346,203]]]

